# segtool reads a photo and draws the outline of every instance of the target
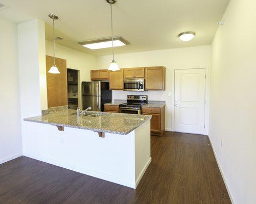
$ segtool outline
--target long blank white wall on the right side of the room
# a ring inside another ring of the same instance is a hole
[[[230,1],[212,44],[210,138],[234,203],[241,204],[256,203],[255,9],[255,1]]]

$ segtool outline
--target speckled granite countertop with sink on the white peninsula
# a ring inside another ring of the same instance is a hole
[[[138,126],[150,120],[150,115],[106,113],[87,111],[88,113],[102,113],[100,117],[80,116],[77,117],[76,110],[65,110],[44,112],[41,116],[25,118],[25,121],[51,124],[77,129],[91,130],[104,133],[127,135]]]

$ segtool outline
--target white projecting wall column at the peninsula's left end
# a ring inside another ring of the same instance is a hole
[[[19,91],[22,147],[26,151],[29,126],[23,119],[41,115],[45,98],[45,37],[44,22],[38,19],[20,23],[18,28]],[[42,87],[42,88],[41,88]],[[42,93],[41,91],[44,91]],[[42,104],[43,103],[43,104]]]

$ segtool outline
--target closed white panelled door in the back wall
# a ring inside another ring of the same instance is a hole
[[[174,131],[204,133],[205,69],[175,70]]]

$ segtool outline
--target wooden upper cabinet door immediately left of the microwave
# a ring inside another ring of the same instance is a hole
[[[110,90],[123,90],[124,89],[124,70],[109,72]]]

